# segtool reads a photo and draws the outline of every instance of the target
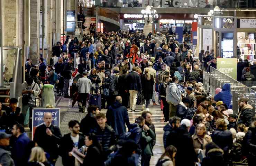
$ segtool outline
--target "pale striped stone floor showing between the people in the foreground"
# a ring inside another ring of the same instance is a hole
[[[157,95],[156,95],[157,96]],[[62,135],[70,132],[68,129],[68,121],[70,120],[78,120],[81,121],[82,118],[85,117],[86,113],[79,113],[77,103],[74,107],[71,107],[72,100],[65,99],[63,97],[56,98],[56,108],[61,109],[61,132]],[[151,103],[152,104],[152,103]],[[156,145],[153,148],[154,156],[152,156],[150,160],[150,165],[156,165],[158,158],[164,152],[163,147],[163,127],[166,124],[163,120],[163,112],[161,112],[160,105],[149,107],[150,112],[152,112],[153,123],[155,124],[156,130]],[[102,110],[102,112],[106,113],[107,110]],[[128,112],[130,123],[134,123],[135,118],[141,115],[141,107],[137,106],[136,112]],[[58,160],[56,163],[57,166],[62,166],[61,160]]]

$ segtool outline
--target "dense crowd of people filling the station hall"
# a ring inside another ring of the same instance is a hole
[[[186,42],[180,47],[167,37],[158,44],[152,33],[143,31],[89,33],[82,41],[67,36],[63,45],[53,47],[49,65],[43,58],[35,65],[27,59],[22,110],[15,99],[0,107],[5,131],[0,132],[0,164],[48,166],[61,156],[64,166],[149,166],[156,144],[152,100],[167,122],[165,152],[157,165],[226,166],[245,158],[254,165],[256,117],[248,99],[238,100],[235,114],[229,83],[216,94],[202,84],[202,70],[216,68],[216,63],[213,50],[202,50],[197,57]],[[62,135],[47,112],[31,141],[24,126],[31,129],[31,109],[47,84],[55,85],[58,96],[77,101],[79,112],[87,114],[81,122],[71,120],[70,133]],[[136,111],[136,105],[143,112],[130,122],[128,111]]]

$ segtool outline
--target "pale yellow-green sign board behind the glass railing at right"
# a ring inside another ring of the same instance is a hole
[[[217,58],[217,70],[236,80],[237,58]]]

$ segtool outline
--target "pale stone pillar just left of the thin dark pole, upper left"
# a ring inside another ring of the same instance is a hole
[[[30,47],[29,56],[35,64],[39,58],[40,0],[30,0]]]

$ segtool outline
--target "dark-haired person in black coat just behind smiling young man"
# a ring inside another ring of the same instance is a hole
[[[92,129],[98,126],[95,116],[100,113],[99,107],[89,105],[87,108],[88,114],[81,120],[80,131],[87,135]]]

